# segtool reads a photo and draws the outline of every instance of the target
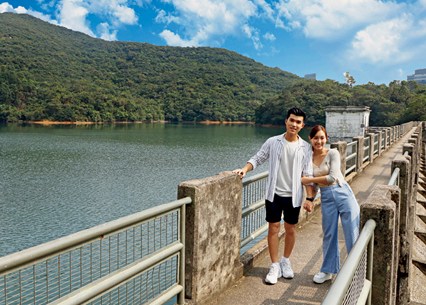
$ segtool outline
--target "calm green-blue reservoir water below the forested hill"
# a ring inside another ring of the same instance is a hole
[[[174,201],[180,182],[243,167],[284,131],[251,124],[0,124],[0,257]]]

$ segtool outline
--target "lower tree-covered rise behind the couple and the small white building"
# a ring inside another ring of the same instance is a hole
[[[307,125],[325,124],[327,106],[369,106],[370,126],[394,126],[426,121],[426,85],[393,81],[349,87],[332,79],[302,80],[256,109],[256,123],[283,125],[287,110],[298,106],[307,113]]]

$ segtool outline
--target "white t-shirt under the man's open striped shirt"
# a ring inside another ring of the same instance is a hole
[[[297,141],[291,143],[283,138],[283,145],[283,155],[281,155],[280,167],[278,168],[275,194],[282,197],[291,197],[293,189],[293,161],[298,144]]]

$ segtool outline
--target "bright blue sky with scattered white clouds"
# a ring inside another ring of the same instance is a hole
[[[104,40],[226,48],[268,67],[356,84],[426,68],[426,0],[9,0]]]

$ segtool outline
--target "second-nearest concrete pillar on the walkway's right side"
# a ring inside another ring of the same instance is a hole
[[[396,304],[408,304],[410,300],[410,252],[412,249],[412,242],[410,242],[410,235],[412,238],[413,231],[412,225],[408,219],[410,214],[411,196],[410,196],[410,157],[398,155],[392,161],[391,172],[395,168],[400,169],[399,174],[399,187],[400,187],[400,254],[398,261],[398,276],[396,283]],[[410,223],[410,226],[408,226]],[[411,234],[410,234],[411,233]],[[411,239],[412,241],[412,239]]]

